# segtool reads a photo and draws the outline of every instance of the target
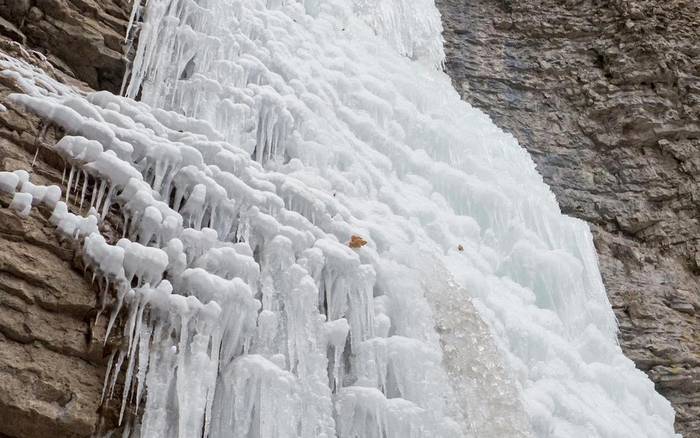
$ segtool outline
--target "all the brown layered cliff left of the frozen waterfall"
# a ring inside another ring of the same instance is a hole
[[[127,20],[118,1],[0,0],[0,54],[77,86],[87,88],[74,78],[118,90]],[[16,91],[0,78],[0,102]],[[60,185],[63,164],[45,146],[62,133],[49,127],[40,138],[38,118],[6,106],[0,170],[24,169],[34,182]],[[92,436],[105,421],[98,413],[106,359],[104,319],[94,324],[97,288],[73,248],[57,239],[49,211],[21,219],[9,202],[0,196],[0,437]]]

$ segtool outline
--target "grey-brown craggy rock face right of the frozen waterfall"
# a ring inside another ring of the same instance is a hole
[[[437,3],[456,88],[591,224],[623,350],[700,437],[700,3]]]

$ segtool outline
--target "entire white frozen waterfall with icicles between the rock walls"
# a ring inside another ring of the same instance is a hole
[[[440,71],[432,1],[148,0],[132,23],[127,97],[0,58],[8,105],[67,134],[64,196],[0,190],[54,208],[98,282],[126,434],[675,436],[587,226]]]

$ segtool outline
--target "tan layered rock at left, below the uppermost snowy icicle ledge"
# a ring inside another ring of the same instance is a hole
[[[0,51],[22,57],[4,39]],[[1,79],[0,101],[12,91]],[[0,170],[24,169],[34,182],[60,184],[62,166],[43,147],[58,133],[49,129],[39,141],[41,129],[19,109],[0,113]],[[9,203],[0,196],[0,436],[91,436],[106,362],[104,321],[93,325],[96,290],[73,262],[73,249],[58,241],[50,211],[37,207],[24,219]]]

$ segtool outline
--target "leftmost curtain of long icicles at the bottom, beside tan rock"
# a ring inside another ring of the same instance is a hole
[[[216,303],[205,305],[194,297],[172,294],[167,280],[155,289],[136,289],[130,300],[125,327],[130,340],[126,386],[132,386],[138,351],[136,400],[148,389],[141,432],[154,437],[173,436],[172,431],[179,431],[177,436],[182,437],[200,433],[216,384],[218,357],[209,345],[216,342],[213,336],[221,308]],[[144,312],[146,307],[150,316]],[[179,318],[171,320],[171,314]],[[171,385],[178,389],[176,412],[163,409],[171,396]]]

